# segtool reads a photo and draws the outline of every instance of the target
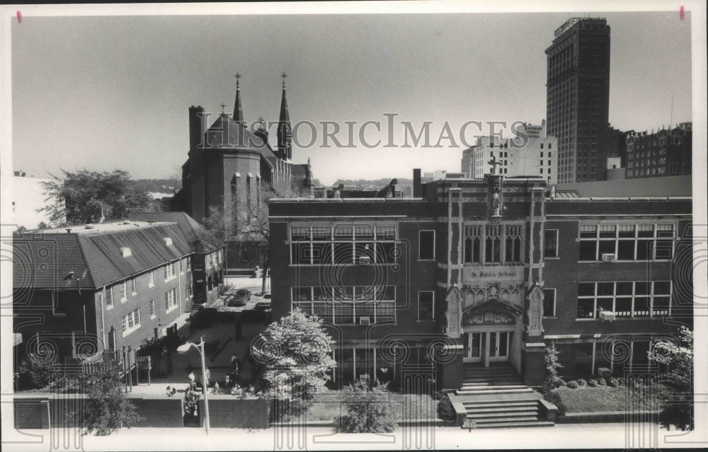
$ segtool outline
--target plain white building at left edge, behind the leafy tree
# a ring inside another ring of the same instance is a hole
[[[48,227],[59,226],[66,223],[67,217],[64,215],[59,224],[52,223],[46,211],[38,211],[54,202],[53,199],[47,201],[45,187],[42,182],[55,182],[50,178],[26,177],[22,171],[15,171],[12,186],[12,222],[18,228],[36,229],[44,223]]]

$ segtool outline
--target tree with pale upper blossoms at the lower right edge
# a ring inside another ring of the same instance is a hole
[[[649,359],[666,366],[658,380],[673,392],[659,413],[662,427],[669,429],[673,425],[679,430],[692,430],[693,331],[681,327],[678,339],[678,342],[656,342],[649,352]]]

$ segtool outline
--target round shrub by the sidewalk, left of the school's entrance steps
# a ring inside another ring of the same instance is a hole
[[[342,390],[346,414],[334,419],[336,433],[389,433],[396,429],[396,410],[386,386],[360,378]]]

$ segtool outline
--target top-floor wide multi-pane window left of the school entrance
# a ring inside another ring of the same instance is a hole
[[[292,226],[290,263],[297,265],[393,264],[396,226]]]

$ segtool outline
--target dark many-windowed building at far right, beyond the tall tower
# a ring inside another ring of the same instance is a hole
[[[692,123],[627,135],[627,179],[691,174]]]

